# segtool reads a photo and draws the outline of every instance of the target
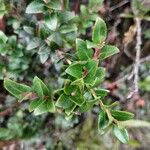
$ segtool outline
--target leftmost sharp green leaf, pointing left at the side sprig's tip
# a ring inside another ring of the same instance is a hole
[[[18,99],[22,99],[24,93],[31,92],[31,88],[29,86],[17,83],[6,78],[4,79],[4,87],[8,92],[10,92]]]

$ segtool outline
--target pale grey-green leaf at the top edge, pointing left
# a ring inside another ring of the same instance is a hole
[[[37,14],[44,12],[44,3],[39,1],[32,1],[26,8],[26,13]]]

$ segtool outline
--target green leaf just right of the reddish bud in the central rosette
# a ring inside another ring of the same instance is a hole
[[[97,61],[90,60],[87,62],[87,64],[85,65],[85,70],[87,70],[87,75],[84,78],[84,82],[86,84],[93,84],[94,82],[93,77],[96,75],[97,68],[98,68]]]

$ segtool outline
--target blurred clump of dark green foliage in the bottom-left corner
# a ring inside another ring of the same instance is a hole
[[[40,119],[36,118],[36,121],[32,121],[33,117],[31,116],[31,120],[29,118],[24,120],[23,117],[23,112],[19,110],[16,112],[15,116],[7,121],[6,127],[0,127],[0,140],[28,139],[33,135],[36,135],[37,129],[42,125]]]

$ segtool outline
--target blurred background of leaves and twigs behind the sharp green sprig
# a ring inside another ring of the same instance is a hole
[[[25,13],[31,2],[0,0],[0,149],[149,150],[150,0],[58,0],[54,9],[60,2],[70,12],[59,36],[52,36],[42,13]],[[37,2],[46,5],[49,0]],[[120,144],[111,131],[98,133],[96,106],[71,120],[65,120],[63,114],[34,116],[27,109],[28,102],[18,103],[3,88],[4,77],[30,85],[35,75],[49,88],[60,88],[62,53],[69,59],[75,52],[76,37],[90,39],[97,16],[106,21],[107,43],[120,49],[101,64],[107,76],[100,86],[110,90],[106,103],[119,101],[118,109],[133,112],[136,119],[145,121],[129,125],[128,145]],[[141,56],[136,66],[138,46]],[[138,93],[134,92],[135,67],[139,69]]]

